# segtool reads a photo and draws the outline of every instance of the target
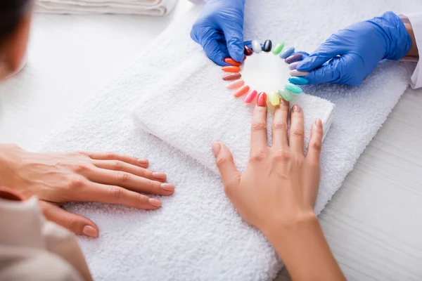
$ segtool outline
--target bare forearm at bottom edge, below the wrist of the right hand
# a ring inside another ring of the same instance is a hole
[[[293,280],[345,280],[316,216],[267,233]]]

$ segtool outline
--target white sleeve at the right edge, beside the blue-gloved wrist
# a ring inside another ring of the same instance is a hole
[[[415,35],[419,58],[422,58],[422,13],[407,14],[407,20],[410,22]],[[407,60],[407,58],[405,57],[404,60]],[[410,74],[410,86],[416,89],[422,87],[422,66],[420,60],[413,58],[413,61],[417,63],[407,63],[407,70]]]

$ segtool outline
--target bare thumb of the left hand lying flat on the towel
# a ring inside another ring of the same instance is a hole
[[[78,214],[72,214],[48,202],[39,201],[39,204],[47,220],[57,223],[59,226],[63,226],[63,228],[67,228],[72,233],[98,237],[98,227],[88,218]]]

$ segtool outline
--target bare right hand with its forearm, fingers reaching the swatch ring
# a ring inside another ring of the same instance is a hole
[[[312,124],[303,155],[303,112],[288,103],[276,107],[272,146],[267,145],[267,108],[255,107],[250,134],[250,160],[239,174],[226,145],[212,150],[224,190],[242,218],[259,228],[283,259],[293,280],[345,280],[324,238],[314,204],[319,187],[322,124]]]

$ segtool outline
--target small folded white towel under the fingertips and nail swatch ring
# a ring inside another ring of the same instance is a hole
[[[288,72],[288,65],[278,55],[263,52],[245,60],[242,74],[246,84],[261,86],[259,91],[271,93],[271,89],[286,83]],[[197,49],[134,106],[135,122],[217,173],[211,144],[221,141],[230,148],[239,171],[243,171],[249,159],[250,119],[255,103],[246,105],[244,97],[235,98],[234,91],[226,89],[228,82],[222,80],[222,74],[221,67]],[[160,94],[169,91],[170,98]],[[306,94],[295,96],[290,106],[294,103],[305,112],[305,144],[312,122],[318,118],[326,136],[334,117],[333,103]],[[267,119],[271,126],[271,107]],[[271,130],[267,132],[271,144]]]

